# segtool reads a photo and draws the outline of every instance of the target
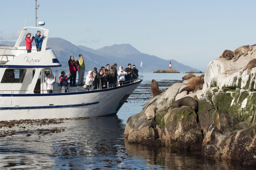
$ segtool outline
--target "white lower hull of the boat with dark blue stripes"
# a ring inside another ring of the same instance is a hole
[[[116,114],[141,81],[123,86],[52,94],[2,94],[0,120],[94,117]],[[70,89],[71,90],[71,89]]]

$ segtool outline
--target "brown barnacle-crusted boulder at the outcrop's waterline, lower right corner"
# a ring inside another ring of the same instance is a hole
[[[202,154],[206,157],[223,157],[239,160],[244,165],[256,165],[256,124],[236,130],[230,135],[211,127],[204,137]]]

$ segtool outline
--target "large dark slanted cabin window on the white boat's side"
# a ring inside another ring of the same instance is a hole
[[[22,83],[26,69],[6,69],[1,83]]]

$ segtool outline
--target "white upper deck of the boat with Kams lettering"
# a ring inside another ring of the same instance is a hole
[[[32,47],[32,52],[27,53],[26,45],[19,46],[25,39],[27,30],[31,33],[40,30],[44,34],[41,51],[36,51],[36,47]],[[61,67],[56,54],[52,48],[46,47],[49,30],[39,27],[25,27],[19,35],[14,46],[0,46],[0,68],[46,68]]]

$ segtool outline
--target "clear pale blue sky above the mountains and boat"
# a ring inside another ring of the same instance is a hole
[[[37,4],[37,21],[45,21],[49,37],[95,50],[129,43],[142,53],[199,69],[226,49],[256,44],[256,1],[38,0]],[[16,41],[26,16],[26,26],[35,26],[35,0],[0,1],[0,6],[0,41]]]

